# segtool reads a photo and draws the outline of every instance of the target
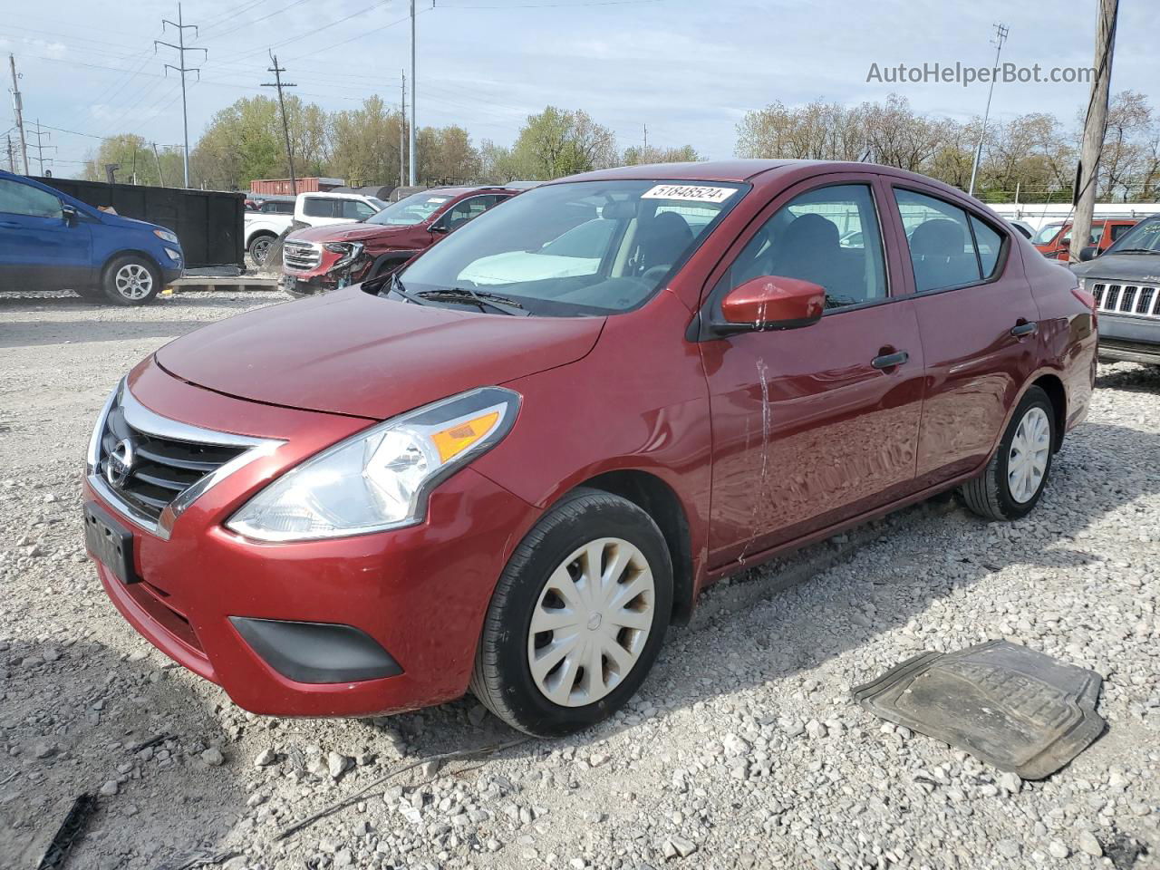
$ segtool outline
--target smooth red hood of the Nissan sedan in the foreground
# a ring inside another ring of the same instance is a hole
[[[355,285],[205,326],[155,358],[171,375],[227,396],[385,420],[574,362],[603,324],[413,305]]]

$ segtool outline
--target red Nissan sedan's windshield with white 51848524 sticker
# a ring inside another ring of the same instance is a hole
[[[486,288],[532,314],[628,311],[742,195],[741,184],[701,181],[546,184],[476,218],[400,277],[412,293]]]

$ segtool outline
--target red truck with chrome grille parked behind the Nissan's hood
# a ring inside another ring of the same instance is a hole
[[[283,245],[282,289],[307,296],[392,271],[517,193],[502,187],[435,188],[358,223],[298,230]]]

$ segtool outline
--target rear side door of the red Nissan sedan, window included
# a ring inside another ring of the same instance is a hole
[[[1010,232],[969,203],[894,182],[926,357],[922,487],[985,463],[1038,360],[1039,310]]]

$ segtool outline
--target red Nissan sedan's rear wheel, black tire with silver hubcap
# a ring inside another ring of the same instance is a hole
[[[1054,408],[1047,393],[1032,386],[1015,408],[986,470],[963,485],[966,506],[987,520],[1027,516],[1047,485],[1054,445]],[[1028,457],[1022,465],[1025,476],[1020,474],[1020,456]]]

